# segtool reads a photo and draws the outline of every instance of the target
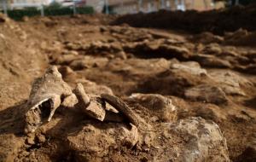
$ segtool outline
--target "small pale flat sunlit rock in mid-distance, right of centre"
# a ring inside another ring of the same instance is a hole
[[[201,68],[200,64],[195,61],[174,63],[171,65],[171,68],[189,72],[193,75],[207,75],[207,70]]]

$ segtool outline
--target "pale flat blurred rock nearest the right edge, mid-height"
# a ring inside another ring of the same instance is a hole
[[[235,72],[215,71],[210,72],[209,76],[217,82],[218,86],[228,95],[246,95],[241,89],[241,86],[253,85],[247,78],[243,78]]]

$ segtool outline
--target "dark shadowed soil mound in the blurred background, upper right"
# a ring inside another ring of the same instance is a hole
[[[224,32],[234,32],[239,28],[255,31],[256,4],[206,12],[162,10],[150,14],[127,14],[113,21],[114,25],[123,23],[134,27],[177,29],[196,33],[213,32],[224,34]]]

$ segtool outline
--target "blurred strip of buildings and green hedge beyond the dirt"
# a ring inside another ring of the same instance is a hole
[[[1,0],[0,9],[7,14],[9,10],[38,9],[44,14],[43,9],[64,9],[90,7],[90,14],[135,14],[138,12],[149,13],[160,9],[204,11],[221,9],[233,5],[247,5],[253,0]]]

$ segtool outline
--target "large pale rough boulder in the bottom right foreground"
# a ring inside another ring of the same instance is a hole
[[[218,124],[192,117],[167,125],[172,133],[185,140],[173,161],[230,161],[227,143]]]

